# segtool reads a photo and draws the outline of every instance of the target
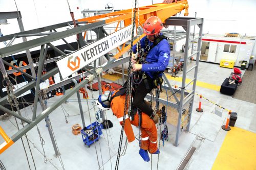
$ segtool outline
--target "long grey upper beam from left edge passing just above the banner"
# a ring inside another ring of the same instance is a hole
[[[45,37],[40,37],[37,39],[33,39],[27,42],[23,42],[23,43],[18,43],[18,44],[14,44],[12,46],[8,46],[5,48],[0,48],[0,57],[6,57],[8,55],[14,54],[14,53],[18,53],[24,50],[27,50],[29,48],[33,48],[42,44],[47,44],[50,43],[52,41],[56,41],[62,38],[66,38],[84,31],[88,31],[94,28],[98,28],[98,27],[102,27],[106,25],[105,20],[102,21],[98,21],[95,23],[90,23],[88,25],[85,26],[81,26],[81,27],[77,27],[74,29],[70,29],[70,30],[66,30],[66,31],[62,31],[62,32],[57,32],[56,34],[52,34],[52,35],[48,35]]]

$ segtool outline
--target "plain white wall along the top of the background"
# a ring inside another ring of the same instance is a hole
[[[162,1],[154,0],[153,2],[161,3]],[[16,0],[16,3],[18,10],[22,13],[25,30],[71,20],[67,0]],[[130,9],[133,6],[132,0],[69,0],[69,3],[76,19],[82,18],[80,11],[83,9],[104,9],[106,3],[112,3],[115,9]],[[151,0],[139,1],[139,6],[151,4]],[[197,17],[205,18],[203,33],[225,34],[227,32],[238,32],[241,35],[256,35],[254,31],[256,28],[254,22],[254,16],[256,16],[255,0],[188,0],[188,4],[189,17],[194,17],[195,12],[197,12]],[[14,1],[0,1],[0,11],[16,11]],[[183,16],[183,12],[180,16]],[[0,25],[4,35],[19,32],[16,19],[9,19],[8,22],[10,25]],[[75,41],[75,37],[70,41]],[[0,48],[4,46],[3,43],[0,43]],[[180,48],[177,46],[177,51]],[[253,54],[256,55],[256,46]]]

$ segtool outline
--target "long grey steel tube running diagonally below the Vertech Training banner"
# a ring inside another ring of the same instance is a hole
[[[97,75],[99,72],[101,72],[102,69],[97,69]],[[26,125],[24,128],[20,129],[17,133],[15,133],[11,139],[16,142],[18,139],[20,139],[24,134],[26,134],[29,130],[31,130],[34,126],[36,126],[39,122],[41,122],[42,119],[44,119],[46,116],[48,116],[51,112],[53,112],[57,107],[59,107],[63,102],[65,102],[67,99],[69,99],[76,91],[78,91],[81,87],[86,85],[87,83],[93,81],[94,75],[91,75],[89,78],[84,79],[81,81],[78,85],[76,85],[73,89],[68,91],[65,95],[63,95],[60,99],[57,100],[53,105],[48,107],[46,110],[42,111],[41,114],[39,114],[36,119],[30,124]]]

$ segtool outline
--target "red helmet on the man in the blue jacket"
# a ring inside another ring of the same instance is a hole
[[[146,35],[155,35],[163,29],[163,22],[157,16],[147,18],[144,23],[143,32]]]

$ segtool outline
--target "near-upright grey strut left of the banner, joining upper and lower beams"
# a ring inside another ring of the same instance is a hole
[[[42,68],[44,67],[44,62],[47,54],[48,45],[41,45],[41,51],[39,56],[39,67],[37,70],[37,78],[36,78],[36,85],[35,85],[35,99],[34,99],[34,108],[33,108],[33,117],[32,120],[35,120],[36,117],[36,109],[37,109],[37,102],[38,102],[38,95],[39,95],[39,84],[41,83],[41,75],[42,75]]]

